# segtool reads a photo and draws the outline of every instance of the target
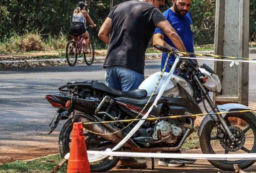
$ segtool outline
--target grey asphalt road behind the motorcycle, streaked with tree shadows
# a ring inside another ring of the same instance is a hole
[[[256,54],[250,54],[256,58]],[[207,61],[212,66],[213,61]],[[199,64],[203,64],[202,60]],[[255,68],[249,67],[249,106],[255,106]],[[145,76],[160,71],[160,60],[146,60]],[[75,67],[37,67],[0,70],[0,163],[29,159],[58,152],[58,134],[64,123],[49,132],[49,123],[55,114],[45,99],[58,94],[58,87],[68,81],[104,82],[102,63]]]

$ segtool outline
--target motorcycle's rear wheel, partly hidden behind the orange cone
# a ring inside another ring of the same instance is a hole
[[[70,145],[72,141],[72,128],[73,122],[70,118],[62,127],[60,134],[59,134],[59,150],[62,158],[70,151]],[[87,150],[97,150],[103,151],[107,148],[114,148],[116,144],[113,144],[105,139],[97,136],[95,134],[87,133],[84,131],[86,140],[86,147]],[[108,170],[112,169],[114,166],[117,165],[119,162],[120,157],[113,157],[113,160],[107,158],[102,159],[97,162],[91,162],[90,169],[91,172],[107,172]]]

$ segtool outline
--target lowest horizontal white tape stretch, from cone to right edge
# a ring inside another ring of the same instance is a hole
[[[173,154],[173,153],[144,153],[144,152],[116,152],[116,151],[87,151],[88,157],[93,155],[118,156],[118,157],[155,157],[175,159],[198,160],[256,160],[256,153],[243,154]]]

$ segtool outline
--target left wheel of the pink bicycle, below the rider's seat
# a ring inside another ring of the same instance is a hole
[[[77,50],[75,50],[75,41],[69,40],[66,47],[66,58],[70,66],[75,66],[77,60]]]

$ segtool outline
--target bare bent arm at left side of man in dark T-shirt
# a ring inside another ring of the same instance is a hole
[[[111,31],[111,27],[112,27],[112,19],[107,17],[99,29],[98,37],[102,41],[104,41],[107,45],[109,44],[109,34]]]

